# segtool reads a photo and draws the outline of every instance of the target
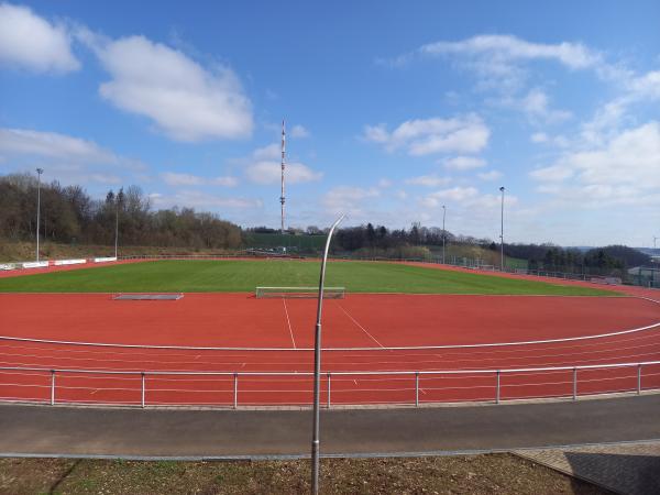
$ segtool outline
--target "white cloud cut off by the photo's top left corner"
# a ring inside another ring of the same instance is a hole
[[[35,73],[68,73],[80,67],[64,26],[11,3],[0,4],[0,65]]]

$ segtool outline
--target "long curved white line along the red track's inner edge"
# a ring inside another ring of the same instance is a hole
[[[650,299],[647,297],[630,296],[632,298],[646,299],[651,302],[660,304],[660,301]],[[632,328],[629,330],[620,330],[607,333],[598,333],[596,336],[583,336],[583,337],[564,337],[561,339],[547,339],[547,340],[526,340],[517,342],[490,342],[490,343],[477,343],[477,344],[448,344],[448,345],[399,345],[385,348],[323,348],[323,351],[424,351],[424,350],[441,350],[441,349],[479,349],[479,348],[498,348],[498,346],[512,346],[512,345],[536,345],[544,343],[556,342],[574,342],[580,340],[593,340],[604,339],[607,337],[625,336],[627,333],[636,333],[645,330],[652,330],[660,328],[660,322],[647,324],[645,327]],[[51,340],[51,339],[31,339],[25,337],[9,337],[0,336],[0,340],[13,341],[13,342],[32,342],[32,343],[50,343],[57,345],[81,345],[81,346],[98,346],[98,348],[118,348],[118,349],[166,349],[177,351],[264,351],[264,352],[282,352],[282,351],[294,351],[292,348],[219,348],[219,346],[200,346],[200,345],[154,345],[154,344],[122,344],[122,343],[109,343],[109,342],[76,342],[70,340]],[[375,340],[375,339],[374,339]],[[380,343],[378,343],[380,345]],[[314,348],[297,348],[295,351],[314,351]]]

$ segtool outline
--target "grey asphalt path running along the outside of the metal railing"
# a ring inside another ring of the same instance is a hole
[[[546,404],[330,410],[326,455],[510,451],[660,440],[660,394]],[[155,410],[0,406],[4,455],[307,455],[309,410]]]

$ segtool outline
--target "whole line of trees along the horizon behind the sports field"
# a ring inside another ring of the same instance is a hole
[[[0,177],[0,238],[14,241],[34,239],[36,230],[37,180],[29,174]],[[62,186],[57,182],[41,185],[40,234],[43,240],[64,244],[114,243],[119,220],[122,246],[162,246],[186,249],[260,248],[265,237],[274,239],[264,246],[294,246],[300,254],[319,251],[322,242],[288,242],[310,237],[318,240],[327,232],[316,226],[290,228],[288,235],[267,227],[241,229],[215,213],[191,208],[154,210],[140,187],[109,190],[103,199],[91,198],[80,186]],[[499,251],[490,239],[459,235],[435,227],[414,223],[409,229],[388,229],[366,223],[337,232],[336,253],[359,256],[438,257],[442,244],[476,246]],[[612,245],[588,251],[554,244],[505,244],[505,254],[525,260],[530,270],[569,273],[623,272],[628,267],[649,265],[650,256],[635,249]],[[484,251],[482,251],[483,253]],[[433,254],[435,253],[435,254]],[[493,260],[496,256],[492,256]]]

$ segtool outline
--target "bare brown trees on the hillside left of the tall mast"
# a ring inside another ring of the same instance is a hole
[[[28,240],[36,231],[37,180],[31,175],[0,177],[0,238]],[[113,244],[117,221],[122,245],[186,248],[241,246],[241,228],[191,208],[153,210],[140,187],[92,199],[79,186],[41,185],[40,234],[67,244]]]

